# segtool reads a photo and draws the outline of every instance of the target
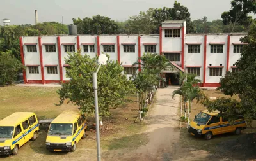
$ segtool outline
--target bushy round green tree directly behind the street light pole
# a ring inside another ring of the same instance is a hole
[[[94,110],[94,95],[92,73],[99,66],[97,58],[90,58],[88,55],[79,53],[68,53],[66,64],[70,64],[67,69],[67,77],[70,81],[63,83],[58,90],[60,103],[65,99],[81,108],[83,113],[92,115]],[[124,68],[117,61],[108,60],[107,66],[100,67],[98,73],[98,94],[99,94],[99,116],[111,115],[110,109],[115,109],[124,104],[125,96],[134,92],[132,81],[127,80],[122,74]]]

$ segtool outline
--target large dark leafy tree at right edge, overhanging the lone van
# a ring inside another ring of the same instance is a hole
[[[218,88],[225,95],[239,95],[240,101],[225,98],[216,101],[206,99],[204,106],[230,115],[244,115],[246,120],[250,121],[256,118],[256,22],[253,22],[248,35],[240,40],[247,45],[244,45],[241,58],[236,62],[239,71],[228,72],[220,79],[221,86]]]

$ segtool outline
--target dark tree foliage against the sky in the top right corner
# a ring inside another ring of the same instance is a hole
[[[221,14],[224,25],[233,24],[232,31],[236,24],[250,26],[252,23],[252,16],[249,13],[256,13],[255,0],[232,0],[231,9]]]

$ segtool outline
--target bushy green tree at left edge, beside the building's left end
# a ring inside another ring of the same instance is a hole
[[[17,79],[17,72],[23,69],[18,59],[12,57],[10,52],[0,52],[0,84],[12,85]]]

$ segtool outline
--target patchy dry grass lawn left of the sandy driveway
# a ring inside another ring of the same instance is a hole
[[[66,109],[77,109],[72,104],[55,106],[58,103],[56,90],[60,87],[1,87],[0,88],[0,120],[16,111],[33,111],[38,118],[55,118]],[[124,106],[111,110],[112,115],[103,118],[104,127],[100,132],[100,143],[102,156],[108,155],[111,150],[122,150],[125,148],[136,148],[146,144],[147,137],[140,134],[143,124],[133,123],[138,113],[136,95],[129,95]],[[95,123],[95,118],[88,117],[88,126]],[[95,160],[96,137],[95,131],[86,132],[86,139],[77,144],[74,153],[50,153],[45,149],[46,132],[42,128],[36,141],[29,141],[19,150],[17,156],[0,157],[1,160]],[[138,141],[140,140],[140,141]]]

